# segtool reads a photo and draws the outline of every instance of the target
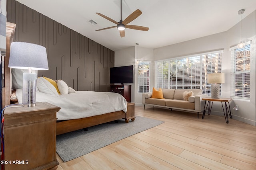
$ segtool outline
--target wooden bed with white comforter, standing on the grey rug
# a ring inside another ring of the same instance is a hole
[[[6,30],[7,47],[6,57],[4,59],[4,88],[2,90],[3,106],[10,104],[10,96],[12,94],[12,79],[10,68],[8,68],[8,61],[10,55],[10,43],[12,42],[12,37],[14,35],[15,24],[7,23]],[[44,78],[42,78],[42,80],[43,79]],[[57,135],[109,121],[116,121],[118,119],[126,119],[126,122],[129,121],[128,117],[126,117],[127,103],[125,98],[120,94],[111,92],[73,91],[68,94],[54,96],[55,94],[50,95],[39,89],[40,88],[37,89],[36,93],[36,102],[49,102],[61,107],[60,111],[57,113]],[[18,102],[22,102],[21,88],[16,90],[16,96]],[[61,102],[58,103],[58,100]],[[87,103],[79,103],[79,100],[86,101]],[[104,103],[104,101],[106,102]],[[90,110],[92,106],[97,107]],[[89,114],[84,117],[83,113],[88,110],[90,110]],[[132,118],[132,121],[134,121],[134,119],[135,118]]]

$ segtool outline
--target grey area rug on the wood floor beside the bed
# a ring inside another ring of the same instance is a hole
[[[135,121],[129,123],[119,119],[118,123],[113,121],[88,127],[88,131],[78,130],[57,135],[56,151],[66,162],[162,123],[164,121],[136,116]]]

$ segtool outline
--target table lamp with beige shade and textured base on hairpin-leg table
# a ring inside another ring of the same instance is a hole
[[[220,98],[220,83],[225,82],[224,73],[207,74],[207,83],[211,85],[211,96],[214,99]]]

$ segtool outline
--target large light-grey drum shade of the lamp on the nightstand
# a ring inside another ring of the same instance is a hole
[[[8,66],[10,68],[48,70],[46,48],[32,43],[13,42]]]

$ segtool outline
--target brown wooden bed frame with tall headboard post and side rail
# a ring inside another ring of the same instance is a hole
[[[10,105],[10,95],[11,95],[11,74],[10,68],[8,67],[9,57],[10,57],[10,44],[12,43],[14,32],[15,32],[16,24],[14,23],[6,23],[6,57],[4,58],[4,88],[2,89],[2,106]],[[134,107],[127,107],[128,108]],[[134,111],[133,111],[134,112]],[[58,113],[57,113],[58,114]],[[91,127],[94,125],[99,125],[102,123],[115,121],[118,119],[125,119],[126,123],[129,122],[129,119],[134,121],[135,117],[130,117],[124,111],[116,111],[111,113],[105,113],[102,115],[86,117],[81,119],[73,119],[73,120],[66,120],[66,121],[57,121],[57,130],[56,134],[60,135],[63,133],[75,131],[78,129],[84,129],[87,127]]]

